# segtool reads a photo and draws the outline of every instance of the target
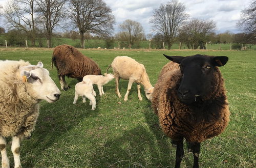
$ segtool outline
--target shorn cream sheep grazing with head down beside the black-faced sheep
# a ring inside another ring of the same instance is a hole
[[[129,80],[127,92],[124,95],[124,101],[127,101],[129,92],[132,88],[133,82],[137,83],[138,97],[142,100],[140,94],[140,83],[145,89],[146,98],[151,101],[154,87],[150,83],[150,79],[146,73],[146,69],[143,64],[138,63],[134,59],[126,56],[116,57],[108,69],[112,67],[116,79],[116,93],[118,97],[122,97],[119,92],[119,79]],[[108,69],[106,71],[108,71]]]

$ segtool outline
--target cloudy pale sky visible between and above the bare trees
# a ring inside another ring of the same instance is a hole
[[[145,35],[155,34],[150,20],[154,9],[167,0],[103,0],[112,9],[115,16],[115,33],[119,32],[118,25],[126,19],[138,21],[144,28]],[[179,0],[185,6],[189,19],[213,20],[216,22],[216,33],[230,31],[240,33],[236,23],[241,11],[248,7],[252,0]],[[8,0],[0,0],[0,11],[3,11]],[[1,9],[1,6],[3,7]],[[4,26],[0,18],[0,26]]]

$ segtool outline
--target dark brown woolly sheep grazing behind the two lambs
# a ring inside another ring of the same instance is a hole
[[[65,91],[69,89],[65,76],[82,81],[83,76],[86,75],[101,75],[97,63],[70,45],[55,47],[52,54],[52,63],[57,68],[60,87]]]

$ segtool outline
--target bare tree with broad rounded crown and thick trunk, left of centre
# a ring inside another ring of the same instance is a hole
[[[108,36],[114,30],[114,15],[102,0],[70,0],[70,19],[79,30],[81,47],[84,34]]]

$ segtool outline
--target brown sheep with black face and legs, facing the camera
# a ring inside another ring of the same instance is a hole
[[[207,55],[165,57],[155,85],[152,107],[163,132],[177,146],[175,167],[183,158],[183,138],[199,167],[200,143],[222,133],[229,122],[224,80],[218,67],[228,58]]]

